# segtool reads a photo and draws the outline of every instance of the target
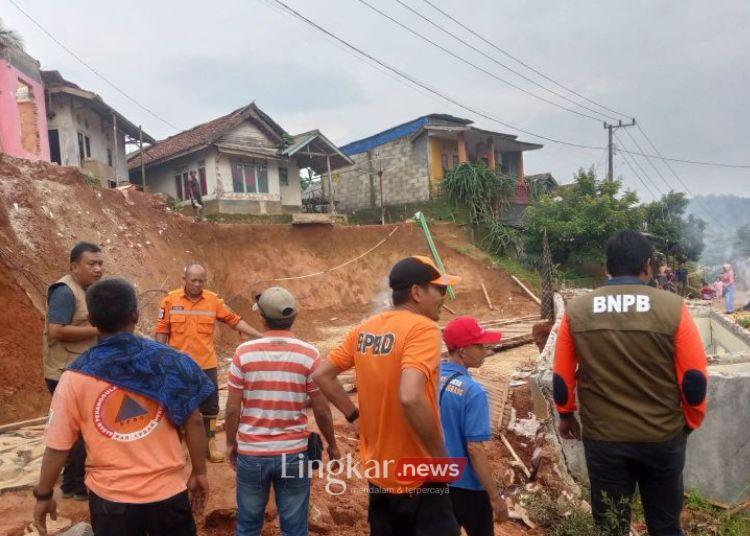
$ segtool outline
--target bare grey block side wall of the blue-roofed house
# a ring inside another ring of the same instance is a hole
[[[410,137],[404,137],[368,152],[349,155],[355,165],[334,173],[340,176],[335,185],[337,209],[340,212],[380,206],[380,185],[377,175],[379,162],[376,153],[382,158],[383,198],[386,205],[429,200],[427,136],[420,136],[414,142]],[[323,188],[326,192],[325,177]]]

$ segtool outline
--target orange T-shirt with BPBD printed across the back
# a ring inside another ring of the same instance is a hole
[[[411,311],[388,311],[354,328],[328,356],[340,370],[354,366],[360,413],[361,467],[368,480],[391,493],[405,493],[423,481],[401,480],[395,474],[403,458],[431,458],[406,420],[399,386],[401,371],[415,368],[427,383],[425,396],[440,434],[437,389],[442,339],[437,324]],[[379,467],[380,474],[368,467]]]

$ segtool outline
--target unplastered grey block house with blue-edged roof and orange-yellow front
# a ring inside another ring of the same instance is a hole
[[[380,170],[385,205],[439,196],[443,177],[460,162],[482,160],[522,179],[524,151],[542,148],[472,125],[469,119],[430,114],[342,146],[355,167],[339,173],[334,189],[337,206],[342,212],[379,207]]]

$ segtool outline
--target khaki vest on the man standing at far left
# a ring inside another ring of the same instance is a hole
[[[76,309],[73,313],[73,320],[70,322],[70,325],[91,327],[91,324],[89,323],[89,310],[86,307],[86,291],[83,290],[83,287],[78,284],[78,281],[76,281],[70,274],[60,278],[56,283],[49,287],[49,290],[47,291],[48,304],[52,290],[59,285],[67,285],[70,290],[73,291],[73,296],[76,300]],[[90,339],[75,342],[62,342],[50,339],[49,326],[45,322],[44,344],[42,347],[44,377],[48,380],[59,380],[68,365],[75,361],[83,352],[96,345],[97,340],[98,339],[95,336]]]

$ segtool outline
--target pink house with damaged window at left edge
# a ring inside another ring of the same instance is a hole
[[[49,161],[39,62],[5,41],[0,41],[0,152]]]

